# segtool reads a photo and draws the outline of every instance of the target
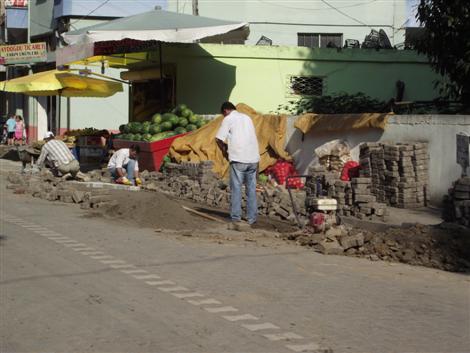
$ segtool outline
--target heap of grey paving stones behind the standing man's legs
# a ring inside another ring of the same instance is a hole
[[[170,196],[227,210],[230,207],[230,185],[217,178],[212,168],[212,161],[168,163],[162,173],[143,172],[143,187],[147,190],[160,191]],[[295,221],[292,202],[284,188],[265,186],[258,190],[257,195],[260,215]],[[292,196],[299,215],[306,219],[305,192],[293,190]],[[245,201],[244,193],[243,200]]]

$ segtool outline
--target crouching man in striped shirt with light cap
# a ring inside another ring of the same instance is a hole
[[[80,164],[67,145],[61,140],[55,140],[50,131],[44,135],[44,141],[46,144],[42,146],[41,155],[37,160],[38,166],[47,165],[56,176],[71,174],[75,178],[80,171]]]

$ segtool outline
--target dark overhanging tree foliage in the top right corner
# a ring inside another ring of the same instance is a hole
[[[441,94],[470,105],[470,1],[421,0],[416,17],[425,28],[415,47],[446,77]]]

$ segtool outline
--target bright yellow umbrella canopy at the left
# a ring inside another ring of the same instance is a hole
[[[0,91],[29,96],[110,97],[122,92],[119,82],[51,70],[0,82]]]

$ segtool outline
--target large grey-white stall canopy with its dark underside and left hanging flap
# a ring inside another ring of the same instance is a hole
[[[145,51],[157,42],[243,43],[248,34],[246,22],[153,10],[62,34],[68,46],[57,50],[56,62],[67,65],[96,55],[125,53],[130,47]]]

